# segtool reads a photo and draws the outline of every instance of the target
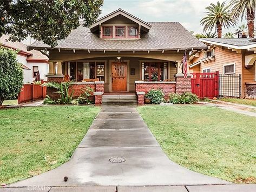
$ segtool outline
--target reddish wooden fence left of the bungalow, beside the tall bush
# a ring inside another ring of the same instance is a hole
[[[18,103],[25,103],[43,99],[46,96],[47,87],[36,84],[24,84],[21,92],[18,94]]]

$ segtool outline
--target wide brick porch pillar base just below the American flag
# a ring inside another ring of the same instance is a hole
[[[176,75],[176,94],[182,94],[183,92],[191,92],[191,75],[184,78],[182,75]]]

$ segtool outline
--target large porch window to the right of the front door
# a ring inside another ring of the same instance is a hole
[[[144,63],[144,81],[163,81],[163,63]]]

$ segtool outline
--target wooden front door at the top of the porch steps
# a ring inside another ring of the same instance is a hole
[[[127,63],[112,63],[112,91],[127,91]]]

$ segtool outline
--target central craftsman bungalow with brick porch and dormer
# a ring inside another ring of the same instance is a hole
[[[139,95],[141,104],[151,88],[161,88],[166,96],[191,91],[190,79],[182,74],[182,56],[185,50],[188,54],[207,46],[178,22],[147,23],[118,9],[90,28],[80,25],[55,48],[37,41],[29,49],[49,51],[48,81],[75,80],[77,94],[90,85],[96,104],[102,94],[125,93]]]

